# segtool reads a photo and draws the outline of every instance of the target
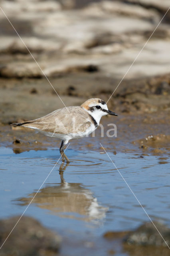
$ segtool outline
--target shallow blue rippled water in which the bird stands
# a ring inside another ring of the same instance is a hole
[[[71,163],[61,170],[61,160],[56,164],[58,150],[15,154],[0,148],[0,218],[21,215],[38,192],[25,215],[59,232],[67,242],[100,241],[108,230],[132,230],[148,221],[128,184],[150,218],[170,226],[168,159],[108,152],[126,184],[107,154],[101,153],[68,149]],[[115,255],[128,255],[118,251],[117,244]],[[63,253],[67,254],[67,246]],[[72,250],[69,255],[78,253],[85,252]],[[105,252],[100,248],[98,255]]]

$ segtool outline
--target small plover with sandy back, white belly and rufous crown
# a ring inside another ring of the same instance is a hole
[[[91,134],[97,129],[101,117],[108,114],[118,116],[115,112],[108,110],[104,100],[91,98],[81,106],[60,108],[41,118],[11,125],[35,129],[46,136],[60,139],[59,151],[62,163],[65,160],[69,163],[70,161],[64,152],[65,145],[71,139],[78,139]]]

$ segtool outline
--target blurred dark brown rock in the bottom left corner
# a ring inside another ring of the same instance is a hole
[[[0,244],[4,242],[20,216],[0,220]],[[0,256],[56,256],[61,237],[44,228],[34,218],[22,216],[4,245]]]

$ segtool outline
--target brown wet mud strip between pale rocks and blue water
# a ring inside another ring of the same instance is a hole
[[[105,136],[100,138],[101,129],[98,128],[95,138],[73,140],[71,147],[100,150],[100,140],[112,152],[131,150],[138,154],[149,152],[167,154],[170,142],[168,79],[169,77],[165,76],[144,78],[140,81],[125,80],[108,102],[109,108],[119,116],[106,117],[101,120]],[[1,78],[0,80],[1,145],[12,147],[14,152],[31,149],[44,150],[48,147],[57,149],[59,142],[56,139],[44,137],[42,134],[35,133],[34,130],[10,126],[12,122],[32,120],[57,108],[62,108],[63,103],[51,85],[45,79],[9,80]],[[150,85],[151,80],[154,80],[154,84]],[[139,86],[136,86],[135,82]],[[104,78],[99,74],[81,73],[55,78],[51,80],[51,83],[56,85],[55,90],[66,106],[79,106],[91,97],[107,101],[117,81]],[[104,89],[103,84],[105,84]],[[163,84],[166,86],[163,87]],[[108,140],[106,132],[110,123],[116,124],[117,137]]]

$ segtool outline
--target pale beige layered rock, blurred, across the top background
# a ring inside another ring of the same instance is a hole
[[[49,76],[99,70],[104,76],[121,80],[160,20],[156,10],[115,1],[101,1],[79,10],[63,7],[73,4],[69,0],[1,2],[16,31]],[[0,75],[42,78],[41,70],[2,12],[0,30],[4,34],[0,37]],[[161,23],[154,35],[125,79],[169,72],[170,29]]]

